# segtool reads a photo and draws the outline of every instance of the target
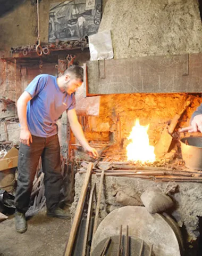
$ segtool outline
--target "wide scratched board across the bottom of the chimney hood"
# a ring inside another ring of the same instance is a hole
[[[200,93],[201,69],[202,53],[87,61],[87,95]]]

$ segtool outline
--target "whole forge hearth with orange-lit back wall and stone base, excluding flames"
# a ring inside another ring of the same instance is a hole
[[[188,134],[179,133],[178,130],[189,125],[193,111],[201,103],[199,96],[188,93],[102,95],[99,115],[84,117],[86,137],[100,154],[91,175],[91,184],[96,183],[97,188],[102,170],[105,169],[99,211],[101,220],[122,206],[142,206],[140,196],[147,189],[166,191],[169,186],[173,186],[176,190],[171,198],[175,207],[169,214],[180,228],[186,230],[186,242],[196,241],[199,237],[198,216],[202,216],[202,175],[200,171],[188,169],[184,165],[180,139]],[[128,161],[128,137],[137,119],[140,125],[148,126],[150,146],[155,148],[161,138],[168,138],[162,140],[166,146],[163,149],[167,151],[162,155],[156,154],[153,162]],[[163,137],[165,134],[167,137]],[[81,151],[77,141],[71,140],[70,147],[78,166],[71,207],[73,218],[86,167],[92,159]]]

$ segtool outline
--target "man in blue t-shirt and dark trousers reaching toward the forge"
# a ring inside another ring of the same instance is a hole
[[[38,75],[18,100],[21,144],[15,195],[15,228],[19,233],[27,230],[25,213],[29,207],[32,183],[40,157],[44,172],[47,215],[69,218],[58,207],[62,175],[56,122],[65,110],[72,132],[82,147],[92,156],[98,156],[97,150],[89,146],[75,113],[74,92],[82,82],[83,69],[79,66],[71,66],[60,77]]]

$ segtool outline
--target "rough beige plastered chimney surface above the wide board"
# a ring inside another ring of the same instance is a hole
[[[202,51],[197,0],[108,0],[99,32],[108,29],[115,59]]]

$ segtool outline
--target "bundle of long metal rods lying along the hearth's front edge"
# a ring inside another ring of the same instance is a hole
[[[80,174],[86,173],[87,162],[82,162],[78,170]],[[174,170],[163,167],[136,166],[131,162],[98,162],[92,169],[92,174],[101,175],[105,169],[105,176],[134,177],[149,180],[202,182],[202,171]]]

